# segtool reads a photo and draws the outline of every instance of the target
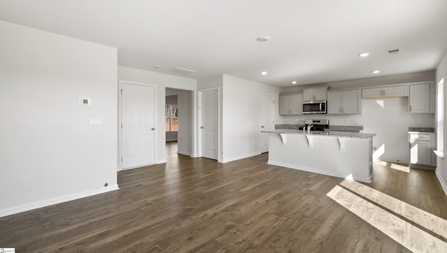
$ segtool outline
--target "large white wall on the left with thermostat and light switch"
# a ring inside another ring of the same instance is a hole
[[[2,21],[0,34],[0,217],[117,189],[117,50]]]

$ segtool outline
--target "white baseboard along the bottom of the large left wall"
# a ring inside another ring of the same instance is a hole
[[[117,189],[119,189],[118,185],[111,185],[108,187],[101,187],[98,189],[83,191],[78,194],[71,194],[71,195],[60,196],[60,197],[56,197],[56,198],[48,198],[48,199],[45,199],[44,201],[37,201],[34,203],[17,205],[12,208],[6,208],[3,210],[0,210],[0,217],[5,217],[8,215],[15,215],[19,212],[26,212],[26,211],[34,210],[37,208],[44,208],[45,206],[48,206],[48,205],[64,203],[67,201],[74,201],[75,199],[78,199],[78,198],[85,198],[85,197],[94,196],[97,194],[103,194],[105,192],[115,191]]]

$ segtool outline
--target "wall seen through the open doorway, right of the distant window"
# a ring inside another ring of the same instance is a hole
[[[177,131],[177,152],[179,154],[192,154],[192,114],[193,96],[192,92],[184,89],[166,89],[166,95],[177,95],[179,106],[179,130]]]

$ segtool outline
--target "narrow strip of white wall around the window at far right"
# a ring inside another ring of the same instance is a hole
[[[446,120],[447,120],[447,52],[442,57],[441,62],[439,62],[439,65],[436,69],[436,83],[441,81],[441,79],[444,78],[444,129],[442,129],[444,133],[444,156],[447,157],[446,154],[446,147],[447,147],[447,133],[446,133]],[[437,168],[436,172],[439,178],[439,181],[441,182],[441,185],[444,187],[444,191],[447,194],[447,159],[437,159]]]

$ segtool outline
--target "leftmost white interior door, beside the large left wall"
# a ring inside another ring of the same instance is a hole
[[[155,87],[122,84],[122,169],[155,164]]]

